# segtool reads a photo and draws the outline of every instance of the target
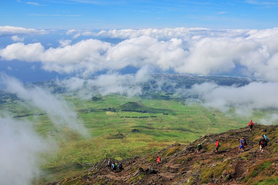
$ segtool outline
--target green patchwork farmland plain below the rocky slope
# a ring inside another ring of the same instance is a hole
[[[90,167],[89,163],[105,157],[120,160],[148,155],[172,143],[187,144],[205,134],[244,127],[250,119],[234,116],[233,109],[224,114],[199,104],[185,105],[184,101],[173,98],[150,100],[110,95],[81,100],[65,95],[64,99],[75,107],[89,138],[68,128],[55,127],[47,114],[24,102],[9,100],[0,105],[1,110],[12,112],[14,119],[32,121],[41,136],[56,141],[58,149],[42,156],[45,162],[41,169],[45,174],[41,183],[73,176]],[[254,111],[252,120],[256,122],[274,112]],[[133,129],[140,132],[132,132]]]

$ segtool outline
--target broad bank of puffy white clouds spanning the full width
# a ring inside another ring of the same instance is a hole
[[[188,74],[238,73],[269,81],[278,80],[278,28],[269,30],[144,29],[67,34],[96,37],[61,47],[40,43],[13,43],[0,50],[2,60],[40,61],[43,69],[89,76],[127,66],[153,65],[160,71]],[[100,38],[98,38],[100,37]],[[119,37],[114,44],[101,37]]]

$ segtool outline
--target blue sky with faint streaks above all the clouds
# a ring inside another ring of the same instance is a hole
[[[278,27],[278,0],[3,0],[0,25],[35,29]]]

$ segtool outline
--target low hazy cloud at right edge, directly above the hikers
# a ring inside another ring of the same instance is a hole
[[[185,91],[186,97],[198,96],[206,107],[229,111],[231,107],[242,116],[251,116],[256,109],[278,109],[278,82],[252,82],[245,86],[219,86],[215,83],[195,84]],[[268,121],[278,118],[270,116]],[[264,123],[267,120],[262,120]]]

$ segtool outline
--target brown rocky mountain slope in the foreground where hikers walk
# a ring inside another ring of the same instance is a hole
[[[278,184],[278,126],[256,125],[200,137],[188,146],[174,144],[150,156],[122,160],[124,170],[111,172],[108,159],[73,178],[51,185],[198,185],[198,184]],[[270,138],[268,150],[259,154],[258,141]],[[238,154],[239,139],[247,140],[247,149]],[[213,152],[215,140],[221,147]],[[202,143],[201,154],[196,146]],[[156,156],[162,162],[156,166]],[[49,184],[50,185],[50,184]]]

